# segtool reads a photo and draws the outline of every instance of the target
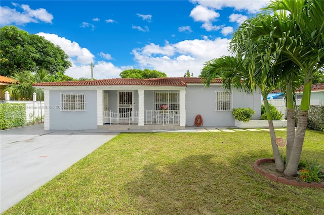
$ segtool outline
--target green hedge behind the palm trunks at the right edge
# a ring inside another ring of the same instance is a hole
[[[295,109],[295,126],[297,126],[300,106]],[[324,106],[310,105],[307,119],[307,129],[324,131]]]

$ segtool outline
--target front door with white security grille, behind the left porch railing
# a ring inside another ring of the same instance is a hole
[[[133,116],[133,91],[118,91],[119,123],[129,123]]]

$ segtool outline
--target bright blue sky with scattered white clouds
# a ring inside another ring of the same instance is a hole
[[[15,25],[67,53],[65,74],[118,78],[126,69],[155,69],[168,77],[229,55],[232,33],[267,1],[1,1],[0,25]]]

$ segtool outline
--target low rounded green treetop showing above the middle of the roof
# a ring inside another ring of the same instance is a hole
[[[119,74],[120,78],[137,78],[137,79],[146,79],[146,78],[164,78],[167,77],[166,73],[159,72],[157,70],[139,70],[139,69],[129,69],[124,70]]]

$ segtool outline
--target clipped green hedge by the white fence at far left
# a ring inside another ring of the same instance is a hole
[[[25,103],[0,103],[0,129],[23,126],[25,123]]]

